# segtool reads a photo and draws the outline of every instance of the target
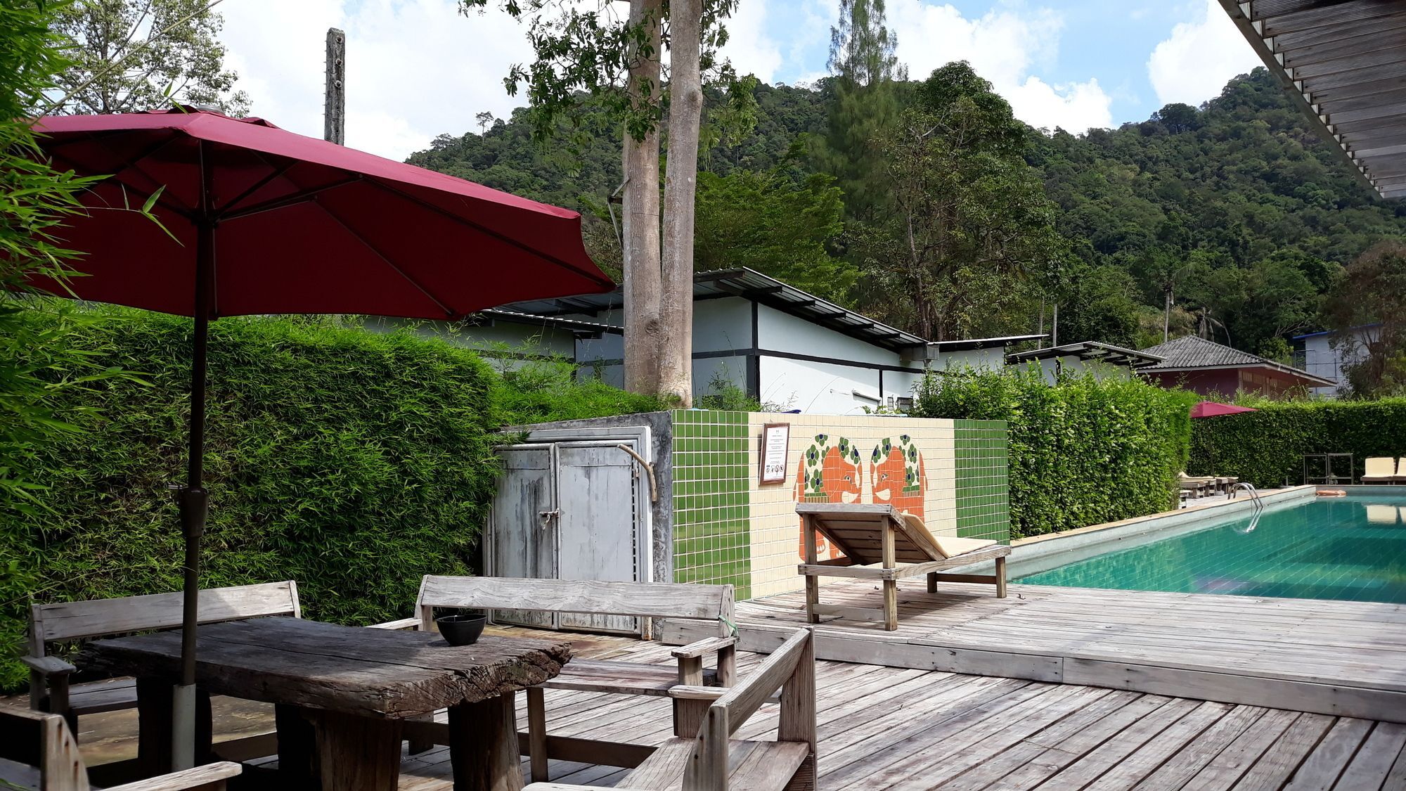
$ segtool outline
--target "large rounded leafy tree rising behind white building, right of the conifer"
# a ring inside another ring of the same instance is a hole
[[[894,303],[912,305],[904,324],[941,341],[980,327],[1022,279],[1057,272],[1069,246],[1024,159],[1025,127],[988,82],[949,63],[915,97],[882,146],[896,210],[876,263]]]

